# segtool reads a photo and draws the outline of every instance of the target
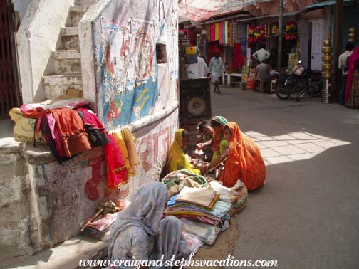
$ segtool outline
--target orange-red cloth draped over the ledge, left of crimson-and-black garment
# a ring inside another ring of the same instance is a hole
[[[53,118],[56,121],[56,127],[67,157],[91,149],[85,125],[76,110],[68,108],[53,110]]]

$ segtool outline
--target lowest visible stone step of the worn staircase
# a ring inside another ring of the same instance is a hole
[[[81,75],[43,75],[46,99],[53,99],[66,93],[68,88],[83,90]]]

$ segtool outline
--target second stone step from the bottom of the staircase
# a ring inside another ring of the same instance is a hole
[[[80,75],[81,56],[78,50],[51,51],[54,75]]]

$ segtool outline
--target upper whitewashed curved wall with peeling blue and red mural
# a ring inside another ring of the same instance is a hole
[[[177,1],[100,0],[79,25],[83,92],[97,103],[106,128],[177,100]],[[166,46],[167,63],[157,64],[156,43]],[[85,56],[88,44],[94,53]]]

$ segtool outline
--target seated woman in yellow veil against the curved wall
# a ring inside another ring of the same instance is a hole
[[[165,172],[169,174],[172,171],[189,169],[194,174],[199,174],[198,169],[193,169],[189,159],[184,154],[189,142],[189,132],[184,129],[179,129],[175,132],[175,141],[170,147],[167,154]]]

